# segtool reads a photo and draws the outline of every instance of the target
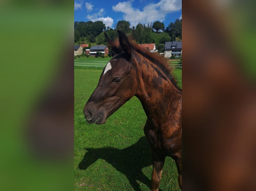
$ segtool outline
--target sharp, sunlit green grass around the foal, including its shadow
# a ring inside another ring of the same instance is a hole
[[[84,105],[101,73],[75,66],[74,190],[148,191],[152,161],[140,101],[131,98],[103,125],[86,122]],[[181,86],[181,70],[174,73]],[[176,165],[170,157],[166,157],[159,190],[179,190]]]

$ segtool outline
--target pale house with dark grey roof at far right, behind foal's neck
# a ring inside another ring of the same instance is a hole
[[[164,45],[164,57],[170,58],[172,55],[175,55],[176,58],[180,57],[182,54],[182,41],[171,41],[165,42]]]

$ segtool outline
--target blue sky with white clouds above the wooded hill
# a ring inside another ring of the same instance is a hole
[[[129,21],[132,26],[140,22],[150,24],[164,23],[181,19],[181,0],[75,0],[75,21],[103,21],[106,28],[115,28],[118,21]]]

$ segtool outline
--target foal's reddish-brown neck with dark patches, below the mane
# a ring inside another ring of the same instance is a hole
[[[136,96],[141,101],[148,119],[158,126],[165,123],[170,118],[170,113],[175,113],[180,106],[181,91],[160,69],[144,67],[138,72],[140,83]]]

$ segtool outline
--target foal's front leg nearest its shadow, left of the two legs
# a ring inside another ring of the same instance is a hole
[[[151,175],[151,189],[152,191],[158,191],[161,176],[162,176],[165,156],[159,155],[153,149],[151,149],[151,155],[153,160],[153,172]]]

